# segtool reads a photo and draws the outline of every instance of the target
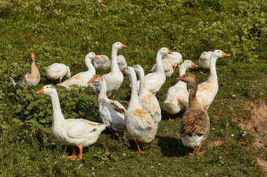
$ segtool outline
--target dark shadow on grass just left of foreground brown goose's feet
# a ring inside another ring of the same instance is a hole
[[[169,136],[156,136],[156,138],[159,139],[157,145],[160,147],[162,155],[166,157],[183,157],[187,155],[181,139]]]

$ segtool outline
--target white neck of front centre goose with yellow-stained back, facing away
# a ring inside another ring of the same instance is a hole
[[[131,82],[131,99],[128,109],[133,109],[133,108],[142,109],[142,106],[138,100],[136,74],[135,73],[130,74],[129,79]]]

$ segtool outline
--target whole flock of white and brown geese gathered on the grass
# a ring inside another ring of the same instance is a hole
[[[111,63],[106,55],[96,55],[90,52],[85,57],[88,70],[79,72],[71,77],[70,67],[63,63],[54,63],[44,67],[49,79],[59,79],[58,86],[72,89],[74,85],[82,88],[91,87],[98,96],[100,118],[103,122],[96,123],[86,119],[65,119],[60,109],[60,101],[56,89],[51,85],[42,86],[37,93],[51,96],[53,105],[52,133],[63,145],[72,145],[72,155],[69,159],[82,159],[83,147],[96,142],[100,133],[108,128],[114,135],[123,134],[126,129],[136,142],[139,153],[144,153],[145,143],[155,139],[159,122],[162,119],[161,107],[155,94],[179,68],[177,83],[171,86],[164,100],[165,110],[176,114],[181,110],[183,113],[180,136],[185,145],[188,155],[202,155],[200,147],[202,141],[209,134],[209,115],[207,110],[211,105],[219,89],[216,75],[216,60],[229,56],[223,51],[203,52],[198,64],[203,69],[209,69],[207,81],[197,84],[195,75],[185,73],[190,67],[197,67],[190,60],[182,59],[181,53],[171,52],[169,48],[160,48],[157,52],[156,64],[149,74],[145,75],[141,65],[127,66],[123,55],[117,55],[117,51],[126,48],[121,42],[112,44]],[[13,86],[37,86],[41,79],[39,70],[35,65],[34,53],[30,55],[31,72],[25,72],[18,77],[10,77]],[[111,65],[111,71],[103,76],[96,74],[97,70],[106,70]],[[115,99],[115,92],[122,85],[124,75],[127,74],[131,82],[131,99],[127,110]],[[136,74],[139,81],[137,81]],[[69,79],[62,82],[63,77]],[[188,92],[187,85],[190,88]],[[109,97],[112,96],[112,99]],[[142,143],[142,146],[139,146]],[[197,152],[189,152],[187,147],[198,146]],[[76,147],[79,147],[79,157],[76,157]]]

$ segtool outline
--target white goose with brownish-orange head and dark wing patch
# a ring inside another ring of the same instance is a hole
[[[107,85],[105,79],[100,75],[93,76],[89,83],[96,82],[100,85],[100,93],[98,94],[99,113],[102,122],[110,129],[110,132],[123,132],[126,129],[124,122],[124,114],[126,112],[124,106],[116,100],[110,100],[107,96]],[[113,134],[113,133],[112,133]]]

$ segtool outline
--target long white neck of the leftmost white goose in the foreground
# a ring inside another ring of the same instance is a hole
[[[58,121],[64,121],[65,118],[63,113],[61,112],[60,103],[58,99],[58,93],[53,92],[50,94],[52,100],[52,107],[53,107],[53,124]]]

